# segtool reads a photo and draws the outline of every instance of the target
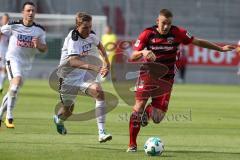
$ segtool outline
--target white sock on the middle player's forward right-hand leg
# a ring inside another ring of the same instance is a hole
[[[96,100],[96,119],[98,125],[98,133],[101,134],[105,130],[105,101]]]

